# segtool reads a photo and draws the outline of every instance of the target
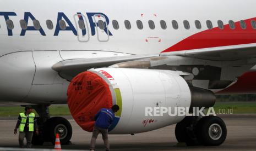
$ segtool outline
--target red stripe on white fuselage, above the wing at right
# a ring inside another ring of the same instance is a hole
[[[224,30],[221,30],[219,27],[215,27],[211,30],[193,34],[172,47],[162,51],[162,53],[256,43],[256,30],[252,28],[252,20],[256,20],[256,18],[244,20],[247,26],[245,30],[241,28],[240,22],[238,21],[235,22],[236,28],[234,30],[232,30],[229,25],[225,25]]]

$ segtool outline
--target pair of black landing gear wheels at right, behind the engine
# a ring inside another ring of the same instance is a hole
[[[186,117],[177,123],[175,136],[187,146],[219,146],[226,139],[227,129],[219,117]]]

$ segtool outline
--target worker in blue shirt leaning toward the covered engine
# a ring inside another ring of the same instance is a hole
[[[111,109],[102,108],[97,114],[95,115],[95,124],[94,130],[92,131],[91,137],[91,145],[90,150],[95,150],[95,143],[97,136],[99,133],[102,134],[102,139],[104,141],[106,151],[110,150],[110,143],[108,142],[108,128],[113,122],[115,118],[115,113],[119,110],[118,105],[113,105]]]

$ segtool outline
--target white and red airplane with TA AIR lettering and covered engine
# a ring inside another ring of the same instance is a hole
[[[213,107],[215,95],[255,94],[253,0],[16,1],[0,5],[0,102],[39,114],[33,144],[72,137],[50,104],[68,103],[91,131],[102,107],[118,104],[110,133],[176,124],[178,142],[219,146],[219,117],[146,117],[145,107]]]

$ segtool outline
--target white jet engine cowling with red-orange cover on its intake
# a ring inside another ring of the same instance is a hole
[[[118,104],[120,110],[110,133],[139,133],[176,124],[184,116],[145,115],[145,107],[190,107],[192,93],[186,81],[173,71],[129,68],[97,68],[80,73],[68,88],[70,112],[86,131],[92,131],[94,115]]]

